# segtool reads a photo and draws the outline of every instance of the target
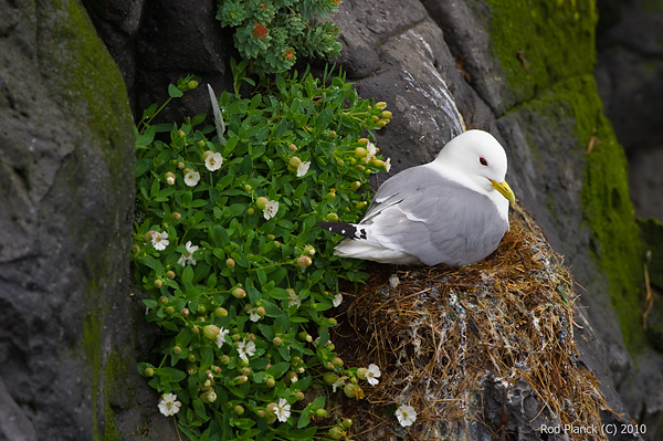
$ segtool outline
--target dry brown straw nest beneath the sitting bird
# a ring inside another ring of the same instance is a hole
[[[497,439],[532,434],[541,423],[600,427],[599,411],[608,407],[577,360],[571,276],[527,219],[512,222],[482,262],[376,264],[367,284],[347,294],[355,298],[337,347],[348,364],[382,370],[378,386],[364,388],[365,402],[343,403],[356,439],[472,439],[477,424]],[[516,389],[529,391],[534,410],[522,402],[507,409]],[[393,417],[402,403],[418,411],[410,428]]]

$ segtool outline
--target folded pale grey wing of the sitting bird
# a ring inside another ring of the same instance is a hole
[[[394,176],[399,179],[388,180],[376,193],[362,221],[371,224],[370,241],[428,265],[464,265],[495,250],[508,222],[486,196],[425,167],[409,170],[413,171]]]

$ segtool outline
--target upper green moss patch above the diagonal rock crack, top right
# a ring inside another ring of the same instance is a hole
[[[592,0],[488,0],[490,50],[516,102],[564,78],[591,72],[598,20]]]

